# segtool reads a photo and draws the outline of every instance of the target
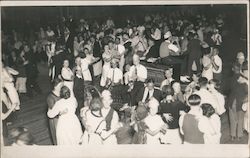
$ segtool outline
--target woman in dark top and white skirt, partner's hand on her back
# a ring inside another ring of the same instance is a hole
[[[162,120],[168,125],[167,133],[161,138],[165,144],[181,144],[182,139],[179,131],[179,118],[181,112],[188,112],[189,106],[174,99],[174,90],[171,86],[164,86],[165,99],[159,107]]]

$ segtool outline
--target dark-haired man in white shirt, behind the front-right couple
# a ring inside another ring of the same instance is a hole
[[[201,97],[201,105],[203,103],[211,104],[213,106],[213,108],[215,109],[215,112],[218,114],[218,108],[220,105],[219,105],[217,98],[211,92],[208,91],[207,78],[201,77],[199,79],[199,84],[200,84],[200,90],[194,92],[194,94],[197,94]]]

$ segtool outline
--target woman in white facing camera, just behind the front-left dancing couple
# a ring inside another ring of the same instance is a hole
[[[61,71],[61,75],[62,75],[64,85],[70,89],[71,97],[73,97],[74,96],[74,92],[73,92],[74,74],[73,74],[72,70],[69,68],[69,61],[68,60],[63,61],[63,68]]]

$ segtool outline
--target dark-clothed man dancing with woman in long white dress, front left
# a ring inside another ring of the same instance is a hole
[[[52,109],[55,103],[60,100],[60,90],[63,86],[63,81],[59,78],[56,78],[53,81],[53,90],[47,97],[48,108]],[[56,126],[58,122],[58,117],[49,119],[49,128],[51,133],[52,142],[54,145],[57,145],[56,141]]]

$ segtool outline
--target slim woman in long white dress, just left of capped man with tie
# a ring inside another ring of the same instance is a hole
[[[106,82],[107,82],[108,72],[111,69],[110,62],[111,62],[111,59],[112,59],[112,54],[109,51],[109,46],[108,45],[104,46],[104,52],[102,54],[102,58],[103,58],[103,61],[104,61],[104,65],[103,65],[103,68],[102,68],[102,77],[101,77],[100,85],[102,87],[104,87],[106,85]]]

